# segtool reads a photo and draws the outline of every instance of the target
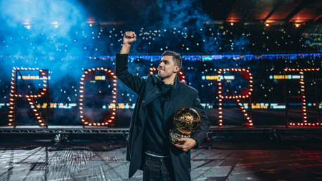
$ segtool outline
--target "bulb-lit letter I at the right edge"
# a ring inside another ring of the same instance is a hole
[[[285,72],[300,72],[301,79],[300,79],[300,85],[301,85],[301,101],[302,101],[302,123],[288,123],[290,126],[319,126],[322,125],[322,123],[307,123],[307,101],[305,100],[305,89],[304,89],[304,72],[314,72],[319,71],[320,69],[284,69]]]

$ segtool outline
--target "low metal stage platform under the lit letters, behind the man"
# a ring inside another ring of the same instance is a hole
[[[104,128],[102,126],[83,128],[82,126],[0,126],[0,134],[122,134],[129,133],[129,128]],[[210,134],[217,133],[322,133],[322,126],[210,126]]]

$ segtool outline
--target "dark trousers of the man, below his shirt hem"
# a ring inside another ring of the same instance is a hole
[[[157,158],[144,154],[143,181],[175,180],[171,157]]]

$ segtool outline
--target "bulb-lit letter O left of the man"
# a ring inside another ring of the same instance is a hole
[[[87,122],[84,118],[84,112],[85,112],[85,106],[84,106],[84,100],[85,100],[85,86],[86,86],[86,83],[84,81],[85,77],[86,77],[86,74],[89,74],[89,72],[96,72],[96,71],[105,71],[106,74],[109,73],[110,76],[112,76],[114,79],[112,81],[112,86],[114,86],[113,90],[112,90],[112,102],[115,104],[116,103],[116,93],[117,93],[117,77],[115,76],[114,72],[112,72],[110,69],[105,69],[103,67],[101,68],[92,68],[92,69],[85,69],[84,70],[84,74],[82,75],[82,77],[80,78],[81,81],[79,82],[80,83],[80,86],[79,86],[79,112],[80,112],[80,119],[82,120],[82,123],[84,123],[85,125],[88,125],[88,126],[107,126],[108,123],[111,123],[112,120],[115,120],[115,116],[116,116],[116,109],[113,108],[112,109],[112,116],[110,117],[110,119],[108,119],[108,121],[105,121],[105,123],[89,123]]]

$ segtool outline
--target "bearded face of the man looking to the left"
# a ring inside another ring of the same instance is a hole
[[[159,76],[161,79],[170,77],[172,76],[172,74],[176,74],[174,73],[175,68],[176,68],[176,65],[174,65],[172,56],[165,55],[160,60],[159,71],[157,72],[157,76]]]

